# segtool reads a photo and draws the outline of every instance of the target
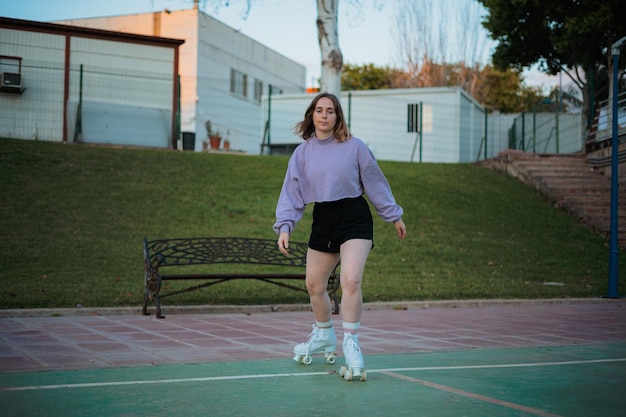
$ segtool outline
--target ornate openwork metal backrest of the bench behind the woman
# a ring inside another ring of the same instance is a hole
[[[216,263],[306,266],[308,244],[289,242],[291,256],[283,255],[274,239],[211,237],[189,239],[144,238],[144,257],[149,263],[206,265]]]

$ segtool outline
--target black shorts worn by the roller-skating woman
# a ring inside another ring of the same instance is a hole
[[[363,196],[315,203],[309,247],[322,252],[339,253],[350,239],[374,240],[374,221]]]

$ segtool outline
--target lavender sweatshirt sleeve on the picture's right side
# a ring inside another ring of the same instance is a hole
[[[374,158],[374,154],[364,142],[358,151],[361,183],[367,197],[378,215],[386,222],[400,220],[404,211],[396,204],[389,182]]]

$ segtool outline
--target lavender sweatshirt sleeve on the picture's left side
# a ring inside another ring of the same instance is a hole
[[[282,232],[291,232],[295,229],[296,224],[302,219],[306,204],[300,190],[298,152],[293,153],[287,165],[287,173],[283,181],[283,187],[278,197],[276,205],[276,223],[274,223],[274,232],[277,235]]]

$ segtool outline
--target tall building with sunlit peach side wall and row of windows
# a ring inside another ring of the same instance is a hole
[[[258,154],[262,96],[303,93],[306,68],[198,10],[65,20],[73,26],[184,39],[179,64],[181,132],[207,140],[205,122],[228,133],[231,148]]]

